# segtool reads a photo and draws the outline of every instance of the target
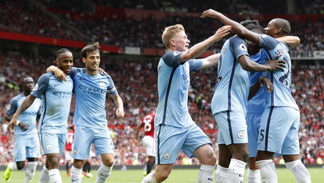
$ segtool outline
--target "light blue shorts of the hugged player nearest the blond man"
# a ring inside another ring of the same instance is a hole
[[[246,117],[240,111],[222,111],[214,114],[226,145],[248,143]]]

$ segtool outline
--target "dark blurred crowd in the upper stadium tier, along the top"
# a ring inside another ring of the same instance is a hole
[[[132,1],[102,1],[102,3],[109,2],[117,2],[115,4],[123,4],[120,2],[124,2],[125,4],[125,2],[131,3]],[[177,2],[178,1],[175,1],[172,6],[177,5]],[[251,2],[257,1],[254,0]],[[304,1],[301,3],[303,2]],[[201,1],[198,3],[201,4]],[[241,3],[244,4],[243,1]],[[273,4],[273,2],[269,3]],[[205,5],[204,3],[202,4]],[[193,7],[201,8],[201,6],[194,3],[193,5],[195,5]],[[225,7],[228,6],[224,6],[224,8],[221,10],[226,12]],[[264,6],[262,4],[262,7],[271,6]],[[282,6],[276,7],[282,8]],[[198,12],[201,13],[206,9],[208,8],[201,9],[201,11],[199,10]],[[275,8],[275,10],[279,9]],[[262,10],[261,12],[265,11]],[[203,41],[209,36],[213,35],[222,25],[215,19],[201,19],[199,16],[189,17],[172,15],[167,16],[162,20],[158,20],[154,16],[147,19],[131,18],[126,20],[107,18],[98,18],[95,20],[78,18],[76,20],[71,18],[68,14],[63,13],[56,13],[56,16],[59,17],[61,21],[54,19],[31,4],[21,4],[17,0],[10,2],[0,1],[0,30],[2,31],[66,38],[85,42],[99,41],[100,43],[104,44],[117,45],[121,48],[141,47],[165,49],[164,44],[161,41],[161,34],[167,25],[174,24],[184,25],[188,38],[191,40],[190,44],[194,45],[195,43]],[[241,18],[235,20],[242,21],[244,19]],[[267,23],[268,22],[260,22],[262,26],[266,26]],[[311,21],[306,23],[292,21],[291,25],[291,35],[299,36],[301,39],[301,44],[297,47],[297,50],[324,50],[323,19],[316,23]],[[78,30],[78,32],[73,31],[71,27]],[[219,43],[213,44],[210,49],[221,49],[224,40],[225,39],[221,40]]]

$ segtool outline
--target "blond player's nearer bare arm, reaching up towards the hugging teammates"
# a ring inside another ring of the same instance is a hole
[[[210,36],[208,39],[202,42],[193,45],[193,47],[191,47],[188,51],[183,52],[180,57],[180,62],[186,62],[187,60],[197,58],[199,55],[205,52],[214,42],[217,42],[223,37],[227,36],[230,30],[230,26],[223,26],[219,28],[214,35]]]

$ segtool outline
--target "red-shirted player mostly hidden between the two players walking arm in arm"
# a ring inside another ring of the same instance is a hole
[[[68,132],[66,134],[66,144],[65,144],[65,168],[66,168],[66,175],[70,176],[70,168],[71,168],[71,161],[72,161],[72,146],[74,140],[74,128],[70,126],[68,128]]]

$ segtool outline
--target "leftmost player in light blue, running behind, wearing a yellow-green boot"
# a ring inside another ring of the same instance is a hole
[[[13,114],[21,106],[22,102],[30,94],[34,87],[34,80],[31,76],[25,76],[21,79],[23,93],[14,97],[7,107],[6,120],[10,121]],[[36,99],[35,102],[22,113],[16,120],[14,160],[10,162],[5,171],[5,181],[11,177],[13,170],[21,170],[25,166],[25,160],[28,160],[26,168],[25,182],[30,182],[35,175],[37,158],[41,157],[39,153],[39,141],[36,129],[36,117],[41,115],[42,101]]]

